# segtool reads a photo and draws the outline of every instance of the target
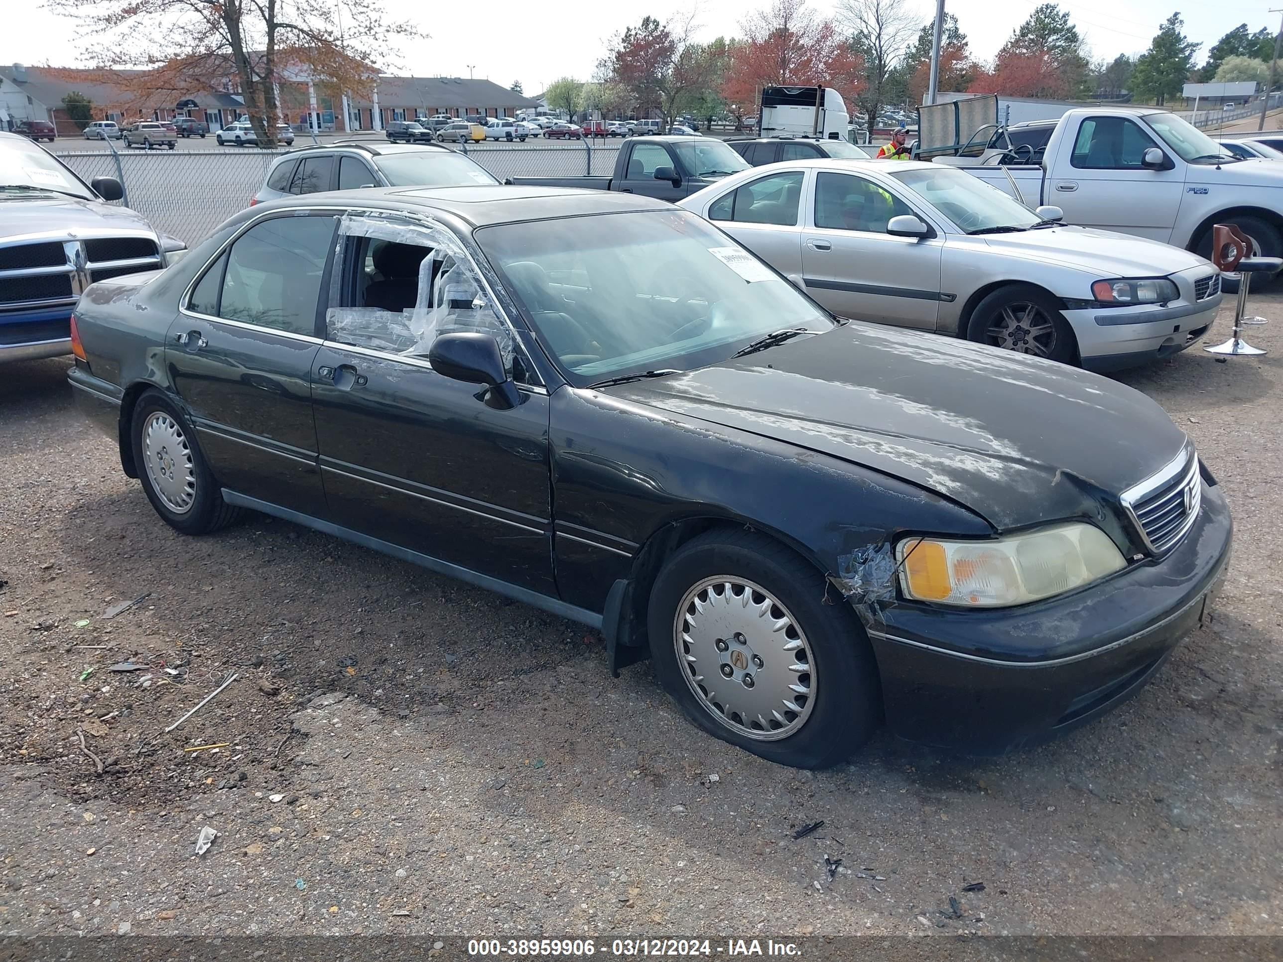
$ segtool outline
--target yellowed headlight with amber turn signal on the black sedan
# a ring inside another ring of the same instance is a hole
[[[899,584],[920,602],[969,608],[1026,604],[1073,591],[1126,562],[1094,525],[1070,522],[993,541],[912,536],[896,545]]]

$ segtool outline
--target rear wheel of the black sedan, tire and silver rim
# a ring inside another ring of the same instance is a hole
[[[223,500],[187,419],[160,391],[139,398],[130,444],[142,491],[169,527],[208,535],[240,517],[241,509]]]

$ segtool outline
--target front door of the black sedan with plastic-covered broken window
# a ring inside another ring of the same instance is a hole
[[[556,596],[548,395],[498,410],[432,371],[436,333],[485,331],[534,378],[458,240],[386,215],[344,221],[340,303],[313,359],[321,468],[335,523]]]

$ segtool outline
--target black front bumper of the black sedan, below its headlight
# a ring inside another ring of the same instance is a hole
[[[1198,521],[1161,561],[1058,599],[1007,609],[856,603],[888,727],[913,741],[997,754],[1109,712],[1202,623],[1230,541],[1229,508],[1210,486]]]

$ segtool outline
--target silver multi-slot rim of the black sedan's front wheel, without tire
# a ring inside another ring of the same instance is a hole
[[[672,630],[681,675],[720,725],[758,741],[798,732],[815,707],[815,659],[789,611],[761,585],[717,575],[694,585]]]

